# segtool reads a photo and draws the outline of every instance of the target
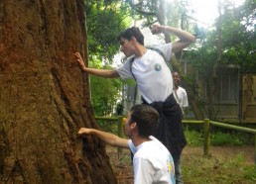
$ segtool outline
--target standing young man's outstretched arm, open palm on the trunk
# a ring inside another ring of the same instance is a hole
[[[74,55],[76,56],[77,62],[81,68],[82,71],[93,74],[100,77],[106,77],[106,78],[116,78],[119,77],[119,74],[116,70],[109,70],[109,69],[95,69],[95,68],[89,68],[86,67],[83,59],[79,52],[75,52]]]

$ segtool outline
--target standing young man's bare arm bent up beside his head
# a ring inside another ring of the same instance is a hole
[[[178,37],[180,40],[173,43],[173,52],[182,51],[185,47],[190,46],[195,41],[195,37],[192,34],[174,27],[153,25],[151,27],[151,32],[152,34],[173,34]]]

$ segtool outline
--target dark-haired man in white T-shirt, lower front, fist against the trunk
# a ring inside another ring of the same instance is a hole
[[[130,148],[134,153],[135,184],[175,184],[175,166],[166,146],[152,135],[159,126],[158,112],[148,105],[135,105],[125,123],[125,135],[130,139],[95,129],[81,128],[81,137],[96,136],[112,146]]]

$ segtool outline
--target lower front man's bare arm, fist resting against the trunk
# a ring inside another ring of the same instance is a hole
[[[113,134],[105,133],[105,132],[98,131],[98,130],[95,130],[95,129],[81,128],[78,131],[78,135],[80,137],[94,135],[94,136],[100,138],[101,140],[105,141],[106,143],[108,143],[112,146],[122,147],[122,148],[129,148],[128,139],[119,138],[119,137],[117,137]]]

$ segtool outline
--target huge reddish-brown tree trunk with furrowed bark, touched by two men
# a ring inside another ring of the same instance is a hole
[[[0,183],[116,183],[97,128],[82,0],[0,1]]]

